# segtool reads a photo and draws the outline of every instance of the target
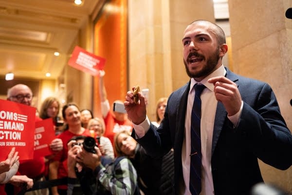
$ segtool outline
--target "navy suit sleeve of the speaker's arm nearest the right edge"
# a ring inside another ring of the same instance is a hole
[[[236,131],[246,139],[248,147],[263,162],[281,169],[292,165],[292,135],[281,116],[279,105],[268,84],[254,102],[244,101]]]

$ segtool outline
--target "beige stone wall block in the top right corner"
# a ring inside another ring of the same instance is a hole
[[[234,49],[286,28],[285,1],[288,0],[229,0]]]

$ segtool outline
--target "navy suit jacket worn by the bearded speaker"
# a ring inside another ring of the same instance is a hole
[[[211,156],[214,190],[215,195],[248,195],[256,183],[263,181],[257,158],[281,170],[291,166],[292,135],[267,83],[225,69],[225,77],[238,86],[243,109],[234,128],[223,104],[218,102]],[[152,156],[161,156],[174,148],[176,194],[183,181],[182,145],[189,88],[190,82],[173,92],[161,126],[156,130],[151,124],[146,135],[137,139]]]

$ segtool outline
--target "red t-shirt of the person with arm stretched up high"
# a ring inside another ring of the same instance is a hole
[[[130,120],[119,121],[117,120],[111,112],[108,112],[108,115],[104,118],[106,130],[104,133],[104,137],[108,137],[111,141],[112,146],[113,144],[113,137],[116,133],[127,130],[128,132],[132,132],[133,125]]]

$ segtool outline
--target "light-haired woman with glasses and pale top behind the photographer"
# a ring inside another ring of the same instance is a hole
[[[91,137],[93,134],[93,137],[96,138],[101,154],[104,156],[109,156],[113,159],[114,152],[110,139],[103,136],[105,132],[105,125],[103,120],[98,117],[91,118],[88,122],[88,129],[91,133]]]

